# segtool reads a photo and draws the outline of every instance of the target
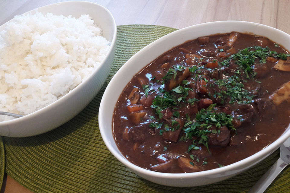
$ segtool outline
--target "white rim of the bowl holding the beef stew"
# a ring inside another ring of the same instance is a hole
[[[271,28],[272,30],[277,30],[280,33],[284,33],[285,35],[287,35],[290,39],[290,35],[283,32],[282,30],[276,29],[274,27],[270,27],[264,24],[259,24],[259,23],[254,23],[254,22],[248,22],[248,21],[232,21],[232,20],[228,20],[228,21],[213,21],[213,22],[207,22],[207,23],[201,23],[201,24],[196,24],[196,25],[192,25],[192,26],[188,26],[176,31],[173,31],[169,34],[166,34],[165,36],[160,37],[159,39],[155,40],[154,42],[148,44],[147,46],[145,46],[144,48],[142,48],[140,51],[138,51],[136,54],[134,54],[126,63],[130,63],[131,60],[134,59],[134,57],[136,57],[136,55],[138,54],[142,54],[144,52],[144,50],[149,49],[150,46],[154,43],[157,44],[159,42],[161,42],[163,39],[165,39],[167,36],[174,34],[174,33],[180,33],[180,31],[183,30],[187,30],[188,28],[191,28],[193,26],[195,27],[199,27],[199,26],[203,26],[203,25],[211,25],[213,23],[245,23],[245,24],[251,24],[251,25],[258,25],[258,26],[263,26],[263,27],[267,27],[267,28]],[[210,34],[209,34],[210,35]],[[182,44],[182,43],[181,43]],[[178,45],[176,45],[178,46]],[[126,66],[126,63],[117,71],[117,73],[113,76],[113,78],[111,79],[111,81],[109,82],[107,88],[110,88],[112,84],[114,84],[114,81],[116,78],[116,76],[118,75],[118,72],[121,71],[121,69],[123,69]],[[144,68],[145,66],[143,66]],[[142,69],[143,69],[142,68]],[[132,75],[133,77],[134,75]],[[259,152],[243,159],[240,160],[238,162],[232,163],[230,165],[227,166],[223,166],[220,168],[215,168],[215,169],[210,169],[210,170],[205,170],[205,171],[201,171],[201,172],[192,172],[192,173],[164,173],[164,172],[155,172],[155,171],[151,171],[148,169],[144,169],[141,168],[137,165],[135,165],[134,163],[131,163],[129,160],[127,160],[123,155],[121,155],[122,153],[119,153],[118,151],[116,151],[114,148],[111,147],[110,143],[108,143],[108,138],[105,135],[104,132],[102,132],[102,112],[105,109],[104,106],[104,101],[106,99],[106,95],[108,93],[108,89],[106,88],[103,97],[101,99],[101,103],[100,103],[100,107],[99,107],[99,128],[100,128],[100,132],[101,132],[101,136],[103,138],[103,141],[105,142],[106,146],[108,147],[108,149],[110,150],[110,152],[121,162],[123,163],[125,166],[127,166],[129,169],[132,169],[133,171],[137,171],[139,173],[148,175],[148,176],[154,176],[155,178],[166,178],[166,179],[193,179],[193,178],[200,178],[200,177],[205,177],[205,176],[211,176],[211,175],[217,175],[220,173],[224,173],[224,172],[228,172],[228,171],[234,171],[235,169],[239,169],[239,167],[241,166],[247,166],[249,165],[248,163],[253,163],[257,158],[261,158],[260,161],[262,161],[265,156],[268,153],[271,153],[273,151],[275,151],[276,149],[279,148],[279,145],[282,144],[287,138],[290,137],[290,125],[288,126],[288,128],[285,129],[285,132],[274,142],[272,142],[271,144],[269,144],[267,147],[265,147],[264,149],[260,150]],[[255,163],[256,164],[256,163]]]

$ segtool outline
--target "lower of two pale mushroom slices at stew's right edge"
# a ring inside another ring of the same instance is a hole
[[[290,99],[290,81],[283,84],[278,90],[271,94],[269,98],[277,106],[284,100]]]

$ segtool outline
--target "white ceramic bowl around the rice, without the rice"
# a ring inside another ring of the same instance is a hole
[[[27,137],[42,134],[69,121],[96,96],[113,63],[117,27],[114,17],[106,8],[91,2],[76,1],[47,5],[29,12],[34,14],[36,11],[43,14],[72,15],[76,18],[82,14],[89,14],[93,17],[95,24],[103,30],[103,36],[111,42],[111,47],[100,66],[68,94],[29,115],[0,122],[0,135],[2,136]],[[0,26],[0,31],[5,28],[6,24]]]

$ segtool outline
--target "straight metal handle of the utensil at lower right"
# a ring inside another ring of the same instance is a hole
[[[262,193],[278,174],[288,165],[281,158],[279,158],[271,168],[256,182],[256,184],[248,191],[248,193]]]

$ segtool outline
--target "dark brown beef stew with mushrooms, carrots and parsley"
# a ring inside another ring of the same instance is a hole
[[[289,53],[266,37],[200,37],[159,56],[125,87],[113,115],[123,155],[183,173],[262,150],[290,122]]]

